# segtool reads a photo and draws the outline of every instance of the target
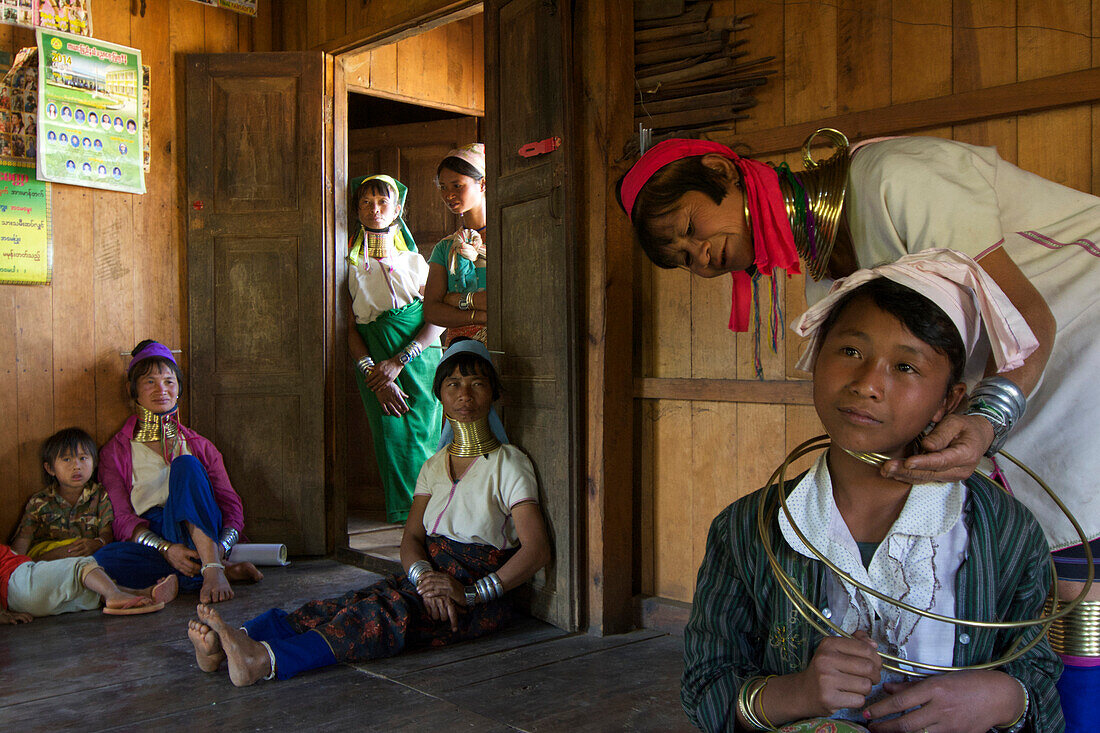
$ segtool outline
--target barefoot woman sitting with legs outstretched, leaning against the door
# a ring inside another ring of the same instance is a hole
[[[230,680],[244,687],[503,628],[507,591],[549,561],[550,546],[535,470],[507,445],[493,411],[499,384],[481,342],[457,340],[444,352],[432,391],[448,426],[417,479],[402,537],[405,573],[292,613],[272,609],[241,628],[200,604],[187,631],[199,668],[215,671],[226,659]]]

